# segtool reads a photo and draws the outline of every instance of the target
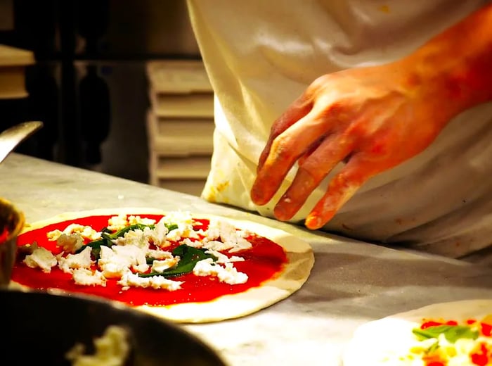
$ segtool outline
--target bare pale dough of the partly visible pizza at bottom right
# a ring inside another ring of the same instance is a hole
[[[418,365],[395,362],[395,357],[408,353],[410,345],[415,343],[412,329],[420,327],[422,319],[481,320],[490,314],[492,299],[472,299],[436,303],[373,320],[361,325],[354,332],[344,350],[343,366]],[[388,358],[393,361],[384,361]]]

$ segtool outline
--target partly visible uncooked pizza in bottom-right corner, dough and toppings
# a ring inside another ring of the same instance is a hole
[[[490,366],[492,299],[427,305],[363,324],[344,366]]]

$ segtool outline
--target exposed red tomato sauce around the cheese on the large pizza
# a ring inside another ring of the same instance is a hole
[[[83,217],[34,229],[18,237],[18,246],[32,244],[36,241],[39,246],[43,246],[54,254],[60,253],[61,249],[56,246],[56,241],[49,241],[46,233],[54,229],[63,231],[67,225],[72,223],[84,226],[89,225],[99,231],[108,225],[108,219],[112,216],[114,215]],[[144,214],[139,214],[139,216],[154,219],[156,222],[162,217],[162,215]],[[195,221],[197,222],[195,229],[206,229],[208,226],[208,220]],[[21,260],[16,261],[11,278],[14,282],[18,282],[32,289],[46,290],[55,288],[101,296],[129,305],[159,306],[195,301],[212,301],[223,295],[238,294],[253,287],[260,286],[266,280],[275,278],[287,263],[287,256],[283,248],[270,239],[253,235],[248,237],[247,240],[252,244],[252,248],[231,254],[240,255],[245,258],[244,262],[234,263],[234,266],[239,272],[247,274],[248,280],[245,284],[231,285],[219,282],[216,277],[198,277],[193,274],[184,274],[171,278],[175,281],[184,281],[181,284],[181,289],[176,291],[144,289],[141,287],[131,287],[128,290],[122,290],[122,286],[117,284],[117,279],[108,279],[106,286],[82,286],[75,284],[72,275],[64,273],[58,266],[52,267],[50,273],[44,273],[39,268],[27,267]],[[171,250],[169,248],[166,248],[166,250]],[[224,254],[228,255],[228,253]]]

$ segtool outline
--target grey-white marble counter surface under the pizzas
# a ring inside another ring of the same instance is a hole
[[[195,196],[13,153],[0,164],[0,196],[27,222],[74,210],[155,207],[252,220],[308,241],[311,277],[289,298],[236,320],[183,325],[231,366],[341,365],[359,324],[429,303],[492,298],[492,269],[294,227]]]

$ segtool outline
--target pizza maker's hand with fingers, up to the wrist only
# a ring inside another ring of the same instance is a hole
[[[268,203],[297,162],[297,175],[274,209],[278,220],[289,220],[335,165],[345,162],[306,217],[306,227],[318,229],[370,177],[424,150],[453,108],[412,67],[397,62],[315,80],[273,123],[252,201]]]

